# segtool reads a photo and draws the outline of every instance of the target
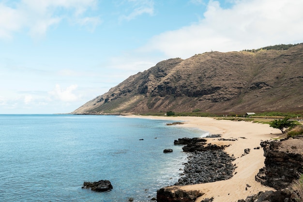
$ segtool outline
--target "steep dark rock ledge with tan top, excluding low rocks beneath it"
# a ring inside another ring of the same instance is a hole
[[[275,189],[288,187],[303,171],[303,139],[261,142],[265,167],[260,169],[256,180]]]

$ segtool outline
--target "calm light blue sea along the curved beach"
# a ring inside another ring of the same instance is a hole
[[[147,202],[173,185],[187,155],[173,144],[206,135],[163,120],[0,115],[1,202]],[[143,139],[143,140],[139,140]],[[166,148],[173,153],[164,154]],[[112,191],[82,189],[109,180]]]

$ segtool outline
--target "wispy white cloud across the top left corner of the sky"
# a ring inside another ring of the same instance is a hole
[[[85,12],[94,9],[96,4],[97,0],[21,0],[10,7],[2,2],[0,38],[12,38],[14,32],[22,29],[29,30],[33,37],[40,36],[63,19],[88,26],[92,31],[101,20],[99,16],[85,16]]]

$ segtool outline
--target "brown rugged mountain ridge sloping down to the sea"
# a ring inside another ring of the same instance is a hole
[[[72,113],[303,111],[303,44],[206,52],[130,76]]]

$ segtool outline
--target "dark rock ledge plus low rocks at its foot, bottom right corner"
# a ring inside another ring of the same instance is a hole
[[[265,167],[260,169],[256,180],[277,191],[259,192],[238,202],[298,202],[301,197],[294,186],[303,171],[303,137],[289,140],[261,142],[264,150]],[[302,189],[302,185],[301,185]]]

